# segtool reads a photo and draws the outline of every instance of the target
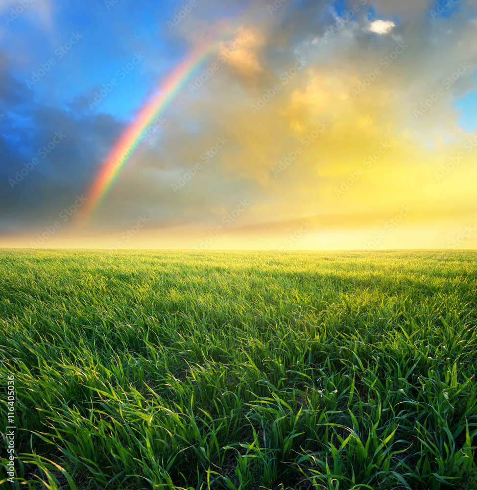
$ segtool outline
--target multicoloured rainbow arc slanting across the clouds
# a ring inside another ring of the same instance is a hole
[[[155,123],[161,114],[217,45],[217,42],[202,43],[193,49],[162,82],[157,95],[139,111],[135,121],[126,129],[99,171],[83,207],[81,222],[84,223],[92,217],[136,149],[147,137],[147,130],[157,127]]]

